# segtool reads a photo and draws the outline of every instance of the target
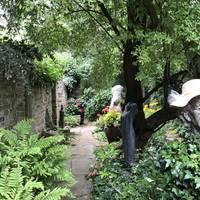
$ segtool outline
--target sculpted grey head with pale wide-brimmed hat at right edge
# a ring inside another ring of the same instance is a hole
[[[200,133],[200,79],[184,83],[181,94],[172,90],[168,103],[177,108],[179,118],[187,127]]]

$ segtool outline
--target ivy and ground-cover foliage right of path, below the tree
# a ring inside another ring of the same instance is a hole
[[[95,199],[198,199],[199,135],[179,122],[156,133],[132,168],[123,165],[115,144],[99,149]]]

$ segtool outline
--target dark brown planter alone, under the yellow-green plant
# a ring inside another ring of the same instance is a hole
[[[105,128],[106,137],[109,143],[119,141],[121,136],[121,131],[119,127],[110,126]]]

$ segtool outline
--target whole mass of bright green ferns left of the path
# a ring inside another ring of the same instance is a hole
[[[65,169],[67,146],[63,136],[39,138],[30,121],[0,130],[1,199],[61,199],[70,197],[74,183]]]

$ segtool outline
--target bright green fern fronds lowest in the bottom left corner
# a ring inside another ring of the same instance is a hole
[[[25,182],[20,167],[1,172],[0,199],[1,200],[60,200],[66,195],[70,196],[70,190],[55,188],[52,191],[44,190],[41,182],[30,179]],[[36,191],[38,194],[36,194]]]

